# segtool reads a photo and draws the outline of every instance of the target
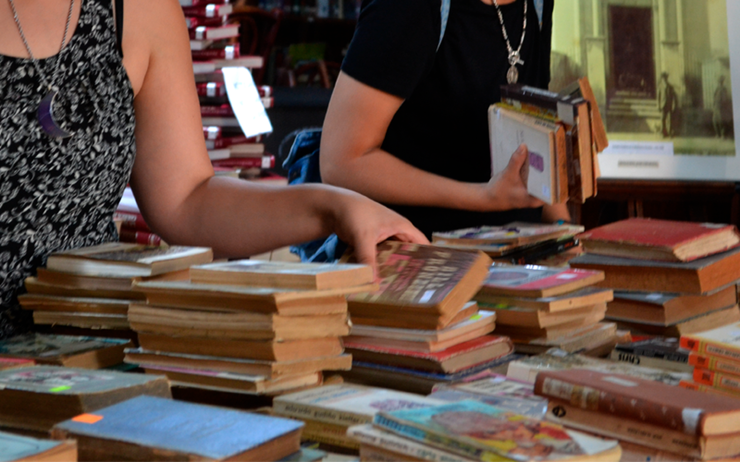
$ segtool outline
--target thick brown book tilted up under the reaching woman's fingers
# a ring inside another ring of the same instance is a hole
[[[478,291],[491,259],[480,251],[386,241],[377,245],[380,290],[348,297],[358,317],[388,318],[404,313],[440,318],[448,325]]]

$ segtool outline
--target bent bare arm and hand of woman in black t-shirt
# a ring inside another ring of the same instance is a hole
[[[471,211],[501,211],[542,205],[525,177],[527,152],[520,149],[505,171],[488,183],[464,183],[409,165],[380,149],[401,98],[341,72],[321,135],[321,177],[383,203],[432,205]]]

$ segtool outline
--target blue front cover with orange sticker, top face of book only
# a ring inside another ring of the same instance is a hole
[[[302,427],[287,418],[138,396],[56,424],[53,432],[222,460]]]

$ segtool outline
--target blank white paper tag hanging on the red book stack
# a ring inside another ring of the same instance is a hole
[[[229,95],[229,103],[244,136],[253,137],[272,132],[272,124],[267,118],[265,106],[249,70],[246,67],[223,67],[221,72],[226,95]]]

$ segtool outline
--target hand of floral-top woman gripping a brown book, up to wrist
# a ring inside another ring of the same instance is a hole
[[[389,237],[403,242],[428,244],[410,221],[383,205],[353,191],[337,188],[330,205],[330,225],[337,237],[354,248],[358,263],[375,265],[376,245]]]

